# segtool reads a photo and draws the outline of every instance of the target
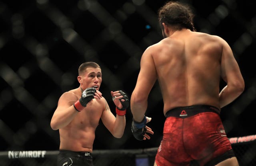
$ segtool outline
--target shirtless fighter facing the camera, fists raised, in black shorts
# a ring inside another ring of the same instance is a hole
[[[122,90],[111,91],[115,117],[99,91],[102,72],[97,63],[81,64],[77,79],[80,86],[60,96],[52,116],[51,127],[60,133],[58,166],[93,166],[92,145],[100,119],[116,138],[122,137],[126,125],[128,96]]]

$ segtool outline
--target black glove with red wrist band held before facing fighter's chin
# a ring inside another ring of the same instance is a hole
[[[86,105],[94,98],[96,88],[87,88],[82,92],[81,98],[77,100],[73,105],[76,111],[80,112]]]

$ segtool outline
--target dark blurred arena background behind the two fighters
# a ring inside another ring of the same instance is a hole
[[[58,131],[50,120],[62,93],[77,88],[78,66],[102,68],[100,91],[115,115],[111,90],[132,94],[144,50],[162,39],[157,11],[165,0],[0,1],[0,165],[55,166]],[[221,117],[240,166],[256,166],[256,2],[184,0],[192,5],[197,31],[218,35],[233,50],[245,80],[243,94]],[[220,86],[224,86],[221,82]],[[158,83],[146,116],[154,131],[137,141],[128,108],[121,139],[100,121],[95,166],[153,166],[165,117]]]

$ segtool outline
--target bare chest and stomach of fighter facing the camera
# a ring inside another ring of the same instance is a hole
[[[69,98],[67,100],[70,104],[76,102],[80,96],[79,88],[62,95],[63,98]],[[74,100],[70,100],[71,98]],[[104,101],[105,99],[92,100],[66,127],[59,129],[60,149],[92,152],[95,130],[104,110],[105,104],[102,104]]]

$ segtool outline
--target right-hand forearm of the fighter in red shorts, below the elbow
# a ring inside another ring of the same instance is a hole
[[[240,94],[242,94],[244,88],[238,88],[235,86],[225,86],[220,94],[219,94],[219,100],[220,100],[220,107],[224,107],[231,102],[233,102]]]

